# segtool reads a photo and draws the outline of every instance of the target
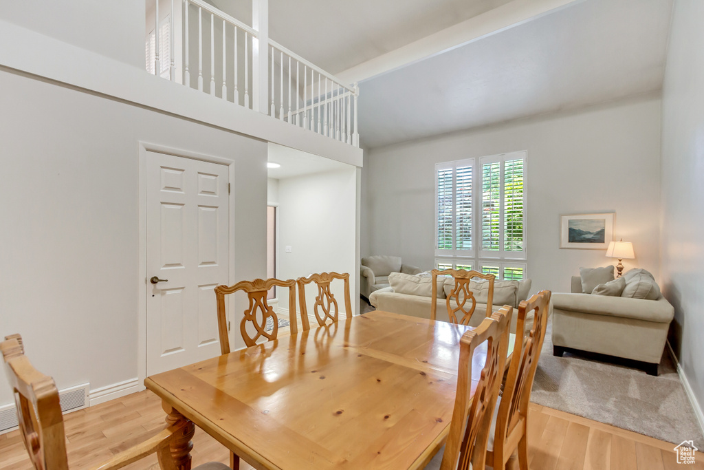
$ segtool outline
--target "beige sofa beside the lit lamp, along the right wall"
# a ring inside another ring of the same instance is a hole
[[[658,375],[674,317],[674,308],[659,288],[651,291],[655,299],[596,295],[584,293],[582,278],[574,276],[570,290],[552,296],[555,356],[571,350],[607,354],[636,361],[631,365]]]

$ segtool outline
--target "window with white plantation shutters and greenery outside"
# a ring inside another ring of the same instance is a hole
[[[436,164],[436,266],[526,276],[526,160],[517,151]]]

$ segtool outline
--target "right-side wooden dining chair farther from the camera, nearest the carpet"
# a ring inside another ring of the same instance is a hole
[[[513,452],[517,451],[519,468],[528,470],[528,404],[545,340],[550,297],[551,292],[543,290],[518,305],[515,346],[503,394],[496,404],[496,427],[489,437],[486,452],[486,464],[495,469],[504,469]],[[531,312],[533,326],[526,335],[524,325]]]

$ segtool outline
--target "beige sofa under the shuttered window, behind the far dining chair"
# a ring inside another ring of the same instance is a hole
[[[429,276],[407,276],[401,273],[391,273],[391,275],[389,275],[391,285],[396,285],[396,287],[398,287],[399,279],[407,280],[410,283],[410,287],[408,287],[408,285],[404,285],[403,288],[400,289],[402,292],[395,292],[394,287],[391,286],[376,290],[375,292],[372,292],[369,297],[370,304],[372,304],[373,307],[376,307],[377,310],[391,311],[396,314],[418,316],[420,318],[429,319],[430,306],[432,302],[432,278]],[[396,282],[394,282],[394,280],[396,280]],[[413,285],[413,283],[417,285]],[[438,283],[438,293],[440,298],[436,299],[436,319],[441,321],[450,321],[447,314],[446,292],[449,292],[451,287],[454,285],[454,280],[453,278],[443,276],[438,278]],[[520,281],[496,280],[494,301],[492,302],[493,310],[496,311],[498,307],[501,307],[504,304],[509,304],[512,307],[518,307],[521,300],[527,299],[531,284],[532,281],[530,279]],[[472,282],[472,285],[474,285],[474,282]],[[415,293],[411,294],[403,292]],[[479,323],[482,323],[482,320],[486,316],[486,289],[482,290],[481,288],[473,288],[472,292],[477,300],[477,306],[474,308],[474,313],[470,319],[470,326],[479,326]],[[457,306],[454,300],[451,300],[450,302],[453,307]],[[511,320],[512,333],[515,333],[516,330],[516,319],[517,316],[513,315]],[[527,319],[526,328],[530,328],[532,324],[532,319]]]

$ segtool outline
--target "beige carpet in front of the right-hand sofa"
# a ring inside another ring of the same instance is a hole
[[[693,440],[704,449],[704,438],[668,350],[662,355],[659,373],[648,376],[569,352],[555,357],[548,322],[531,401],[673,444]]]

